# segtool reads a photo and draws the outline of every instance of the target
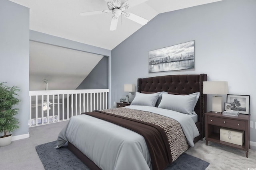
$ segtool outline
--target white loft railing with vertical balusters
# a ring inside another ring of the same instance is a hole
[[[70,119],[82,112],[107,109],[109,89],[29,91],[28,125]]]

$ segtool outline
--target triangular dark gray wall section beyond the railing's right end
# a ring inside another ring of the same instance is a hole
[[[76,89],[108,88],[108,57],[104,56]]]

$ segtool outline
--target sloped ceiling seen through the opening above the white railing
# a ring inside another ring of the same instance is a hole
[[[30,41],[29,90],[72,90],[103,56]]]

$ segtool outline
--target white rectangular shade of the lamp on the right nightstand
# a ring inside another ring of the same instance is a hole
[[[228,94],[228,82],[206,81],[204,82],[204,94]]]

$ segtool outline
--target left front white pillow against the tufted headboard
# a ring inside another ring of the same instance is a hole
[[[145,93],[136,92],[136,95],[131,105],[155,107],[158,96],[159,96],[158,93],[145,94]]]

